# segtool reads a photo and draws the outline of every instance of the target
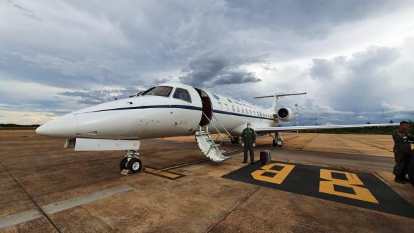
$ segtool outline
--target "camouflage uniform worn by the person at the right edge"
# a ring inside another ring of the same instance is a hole
[[[401,129],[393,131],[394,139],[394,174],[398,177],[404,177],[408,173],[408,163],[411,160],[411,144],[404,142],[405,136],[411,136],[408,132]]]

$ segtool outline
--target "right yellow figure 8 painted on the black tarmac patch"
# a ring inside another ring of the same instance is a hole
[[[333,179],[332,172],[344,174],[346,176],[346,180]],[[357,199],[361,201],[379,203],[377,199],[375,199],[375,196],[368,189],[355,186],[355,185],[364,185],[364,183],[362,183],[362,181],[358,178],[357,174],[355,173],[321,169],[320,176],[321,176],[321,179],[326,179],[328,181],[320,181],[319,192],[324,192],[327,194],[333,194],[337,196],[344,196],[350,199]],[[335,188],[333,185],[340,185],[340,186],[352,188],[355,194],[335,191]]]

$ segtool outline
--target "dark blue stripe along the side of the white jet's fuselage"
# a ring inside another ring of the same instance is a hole
[[[182,109],[189,109],[189,110],[199,110],[202,111],[203,108],[191,106],[191,105],[148,105],[148,106],[136,106],[136,107],[127,107],[127,108],[110,108],[105,110],[96,110],[92,112],[106,112],[106,111],[116,111],[116,110],[131,110],[131,109],[146,109],[146,108],[182,108]],[[228,114],[238,117],[250,117],[250,118],[257,118],[257,119],[265,119],[265,120],[272,120],[276,121],[273,118],[266,118],[266,117],[257,117],[257,116],[250,116],[247,114],[240,114],[236,112],[226,112],[222,110],[213,110],[213,112],[219,113],[219,114]],[[83,112],[83,113],[90,113],[90,112]]]

